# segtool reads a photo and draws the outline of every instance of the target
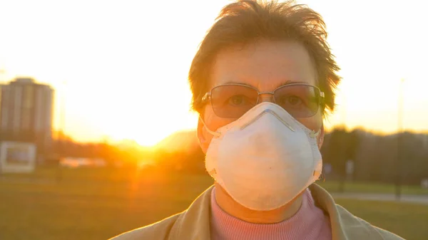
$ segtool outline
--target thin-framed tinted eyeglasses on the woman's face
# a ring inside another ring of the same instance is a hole
[[[205,93],[202,102],[210,100],[215,115],[220,118],[240,118],[258,105],[261,94],[273,95],[273,103],[280,105],[294,118],[312,117],[324,100],[324,93],[320,88],[305,83],[282,85],[273,92],[259,92],[248,85],[228,83]]]

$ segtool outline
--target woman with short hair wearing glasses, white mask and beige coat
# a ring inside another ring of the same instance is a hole
[[[326,36],[307,6],[225,6],[189,72],[215,185],[185,212],[115,239],[401,239],[314,184],[340,81]]]

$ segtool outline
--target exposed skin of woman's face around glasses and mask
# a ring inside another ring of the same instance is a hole
[[[259,41],[245,46],[235,46],[218,53],[210,75],[210,88],[225,83],[241,83],[258,89],[259,92],[272,92],[287,82],[317,85],[315,66],[309,53],[302,44],[290,41]],[[259,103],[273,101],[272,95],[262,94]],[[213,106],[208,103],[201,116],[210,130],[233,122],[233,118],[221,118],[214,113]],[[310,118],[296,118],[311,130],[322,130],[318,137],[321,147],[324,137],[322,112]],[[203,152],[208,150],[211,135],[198,123],[198,137]]]

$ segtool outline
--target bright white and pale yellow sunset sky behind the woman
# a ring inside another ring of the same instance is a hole
[[[143,4],[144,2],[144,4]],[[194,128],[187,74],[230,1],[0,0],[0,83],[31,76],[56,89],[54,127],[79,141],[154,145]],[[320,12],[343,80],[327,127],[428,132],[424,1],[299,1]]]

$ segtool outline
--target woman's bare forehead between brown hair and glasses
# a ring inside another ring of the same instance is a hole
[[[292,41],[259,41],[220,51],[210,74],[210,87],[243,83],[270,91],[288,81],[316,84],[316,71],[309,53]]]

